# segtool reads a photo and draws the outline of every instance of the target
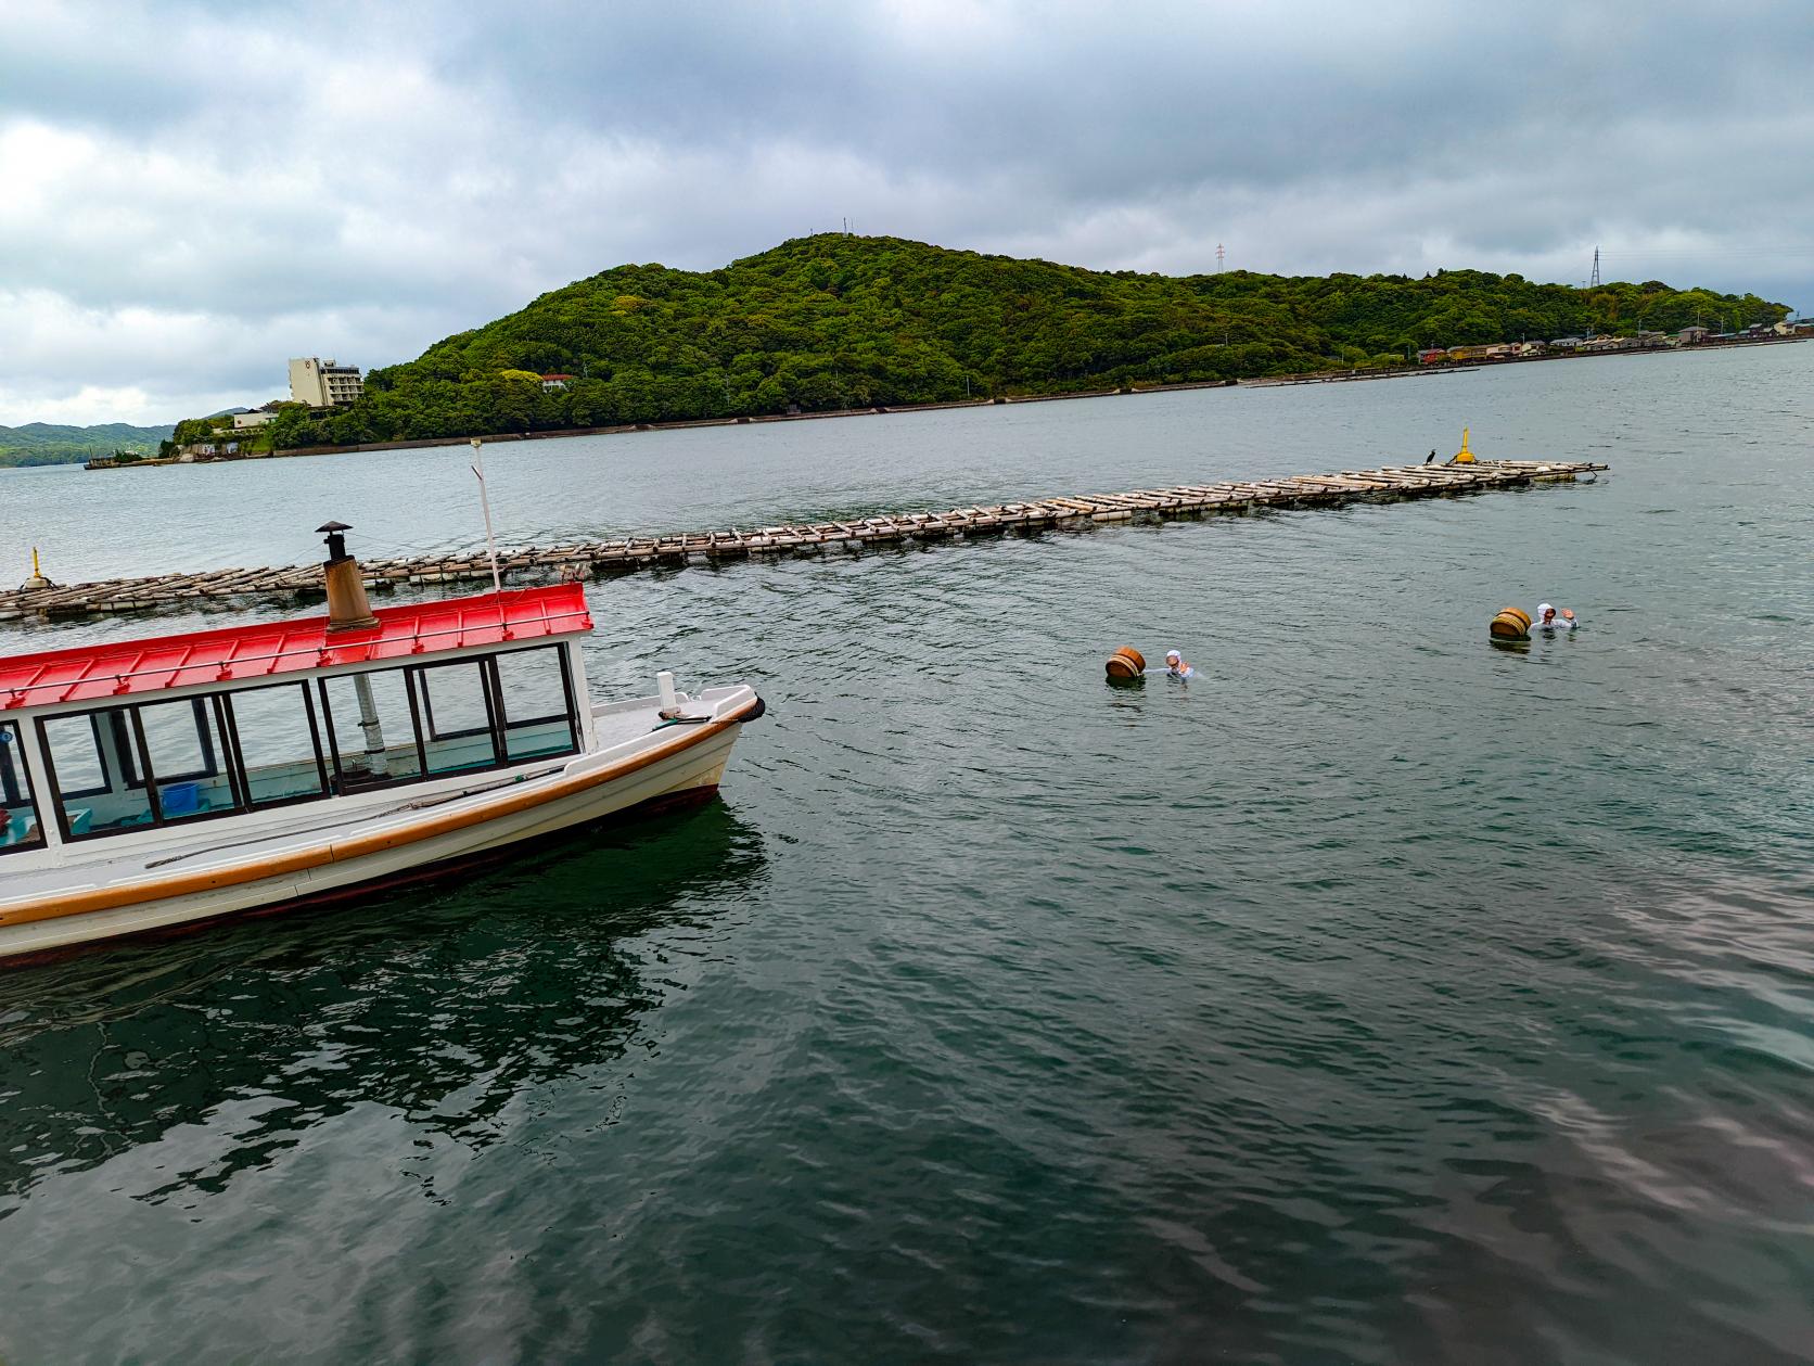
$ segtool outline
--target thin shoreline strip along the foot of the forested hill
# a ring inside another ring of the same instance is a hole
[[[1694,346],[1629,346],[1625,350],[1598,352],[1555,352],[1549,356],[1507,356],[1498,359],[1455,361],[1453,365],[1408,365],[1382,370],[1308,370],[1288,376],[1261,376],[1255,379],[1186,379],[1174,385],[1123,385],[1117,388],[1078,390],[1076,394],[1016,394],[994,399],[947,399],[941,403],[896,403],[874,405],[869,408],[829,408],[825,412],[785,412],[760,414],[749,417],[684,417],[662,423],[613,423],[610,426],[562,426],[548,432],[475,432],[452,437],[414,437],[408,441],[361,441],[348,446],[294,446],[290,450],[258,452],[254,455],[229,455],[210,459],[151,457],[116,464],[112,461],[89,461],[83,470],[143,470],[169,464],[243,464],[247,461],[278,461],[303,455],[357,455],[379,450],[430,450],[434,446],[464,446],[475,435],[486,443],[501,441],[551,441],[559,437],[602,437],[629,435],[635,432],[686,432],[706,426],[756,426],[766,423],[820,423],[838,417],[873,417],[876,414],[918,414],[949,412],[956,408],[1007,408],[1023,403],[1067,403],[1072,399],[1112,399],[1139,394],[1179,394],[1201,388],[1279,388],[1284,385],[1351,385],[1370,379],[1411,379],[1417,376],[1453,376],[1473,374],[1500,365],[1535,365],[1544,361],[1585,361],[1613,356],[1658,356],[1658,354],[1702,354],[1725,352],[1741,346],[1780,346],[1794,341],[1814,341],[1814,337],[1760,337],[1756,341],[1714,341]],[[74,461],[71,461],[74,464]]]

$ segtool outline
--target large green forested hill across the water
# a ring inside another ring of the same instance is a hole
[[[1660,281],[1105,274],[898,238],[798,238],[722,270],[622,265],[374,370],[279,446],[528,432],[1402,365],[1437,345],[1716,330],[1789,310]],[[537,376],[577,376],[542,392]]]

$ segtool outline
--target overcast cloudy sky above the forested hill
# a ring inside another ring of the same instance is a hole
[[[836,229],[1814,312],[1814,4],[0,0],[0,423]]]

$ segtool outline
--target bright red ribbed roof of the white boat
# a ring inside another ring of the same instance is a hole
[[[327,617],[308,617],[11,655],[0,659],[0,711],[196,684],[250,682],[279,673],[444,655],[591,629],[580,584],[379,608],[372,615],[377,626],[334,635],[328,635]]]

